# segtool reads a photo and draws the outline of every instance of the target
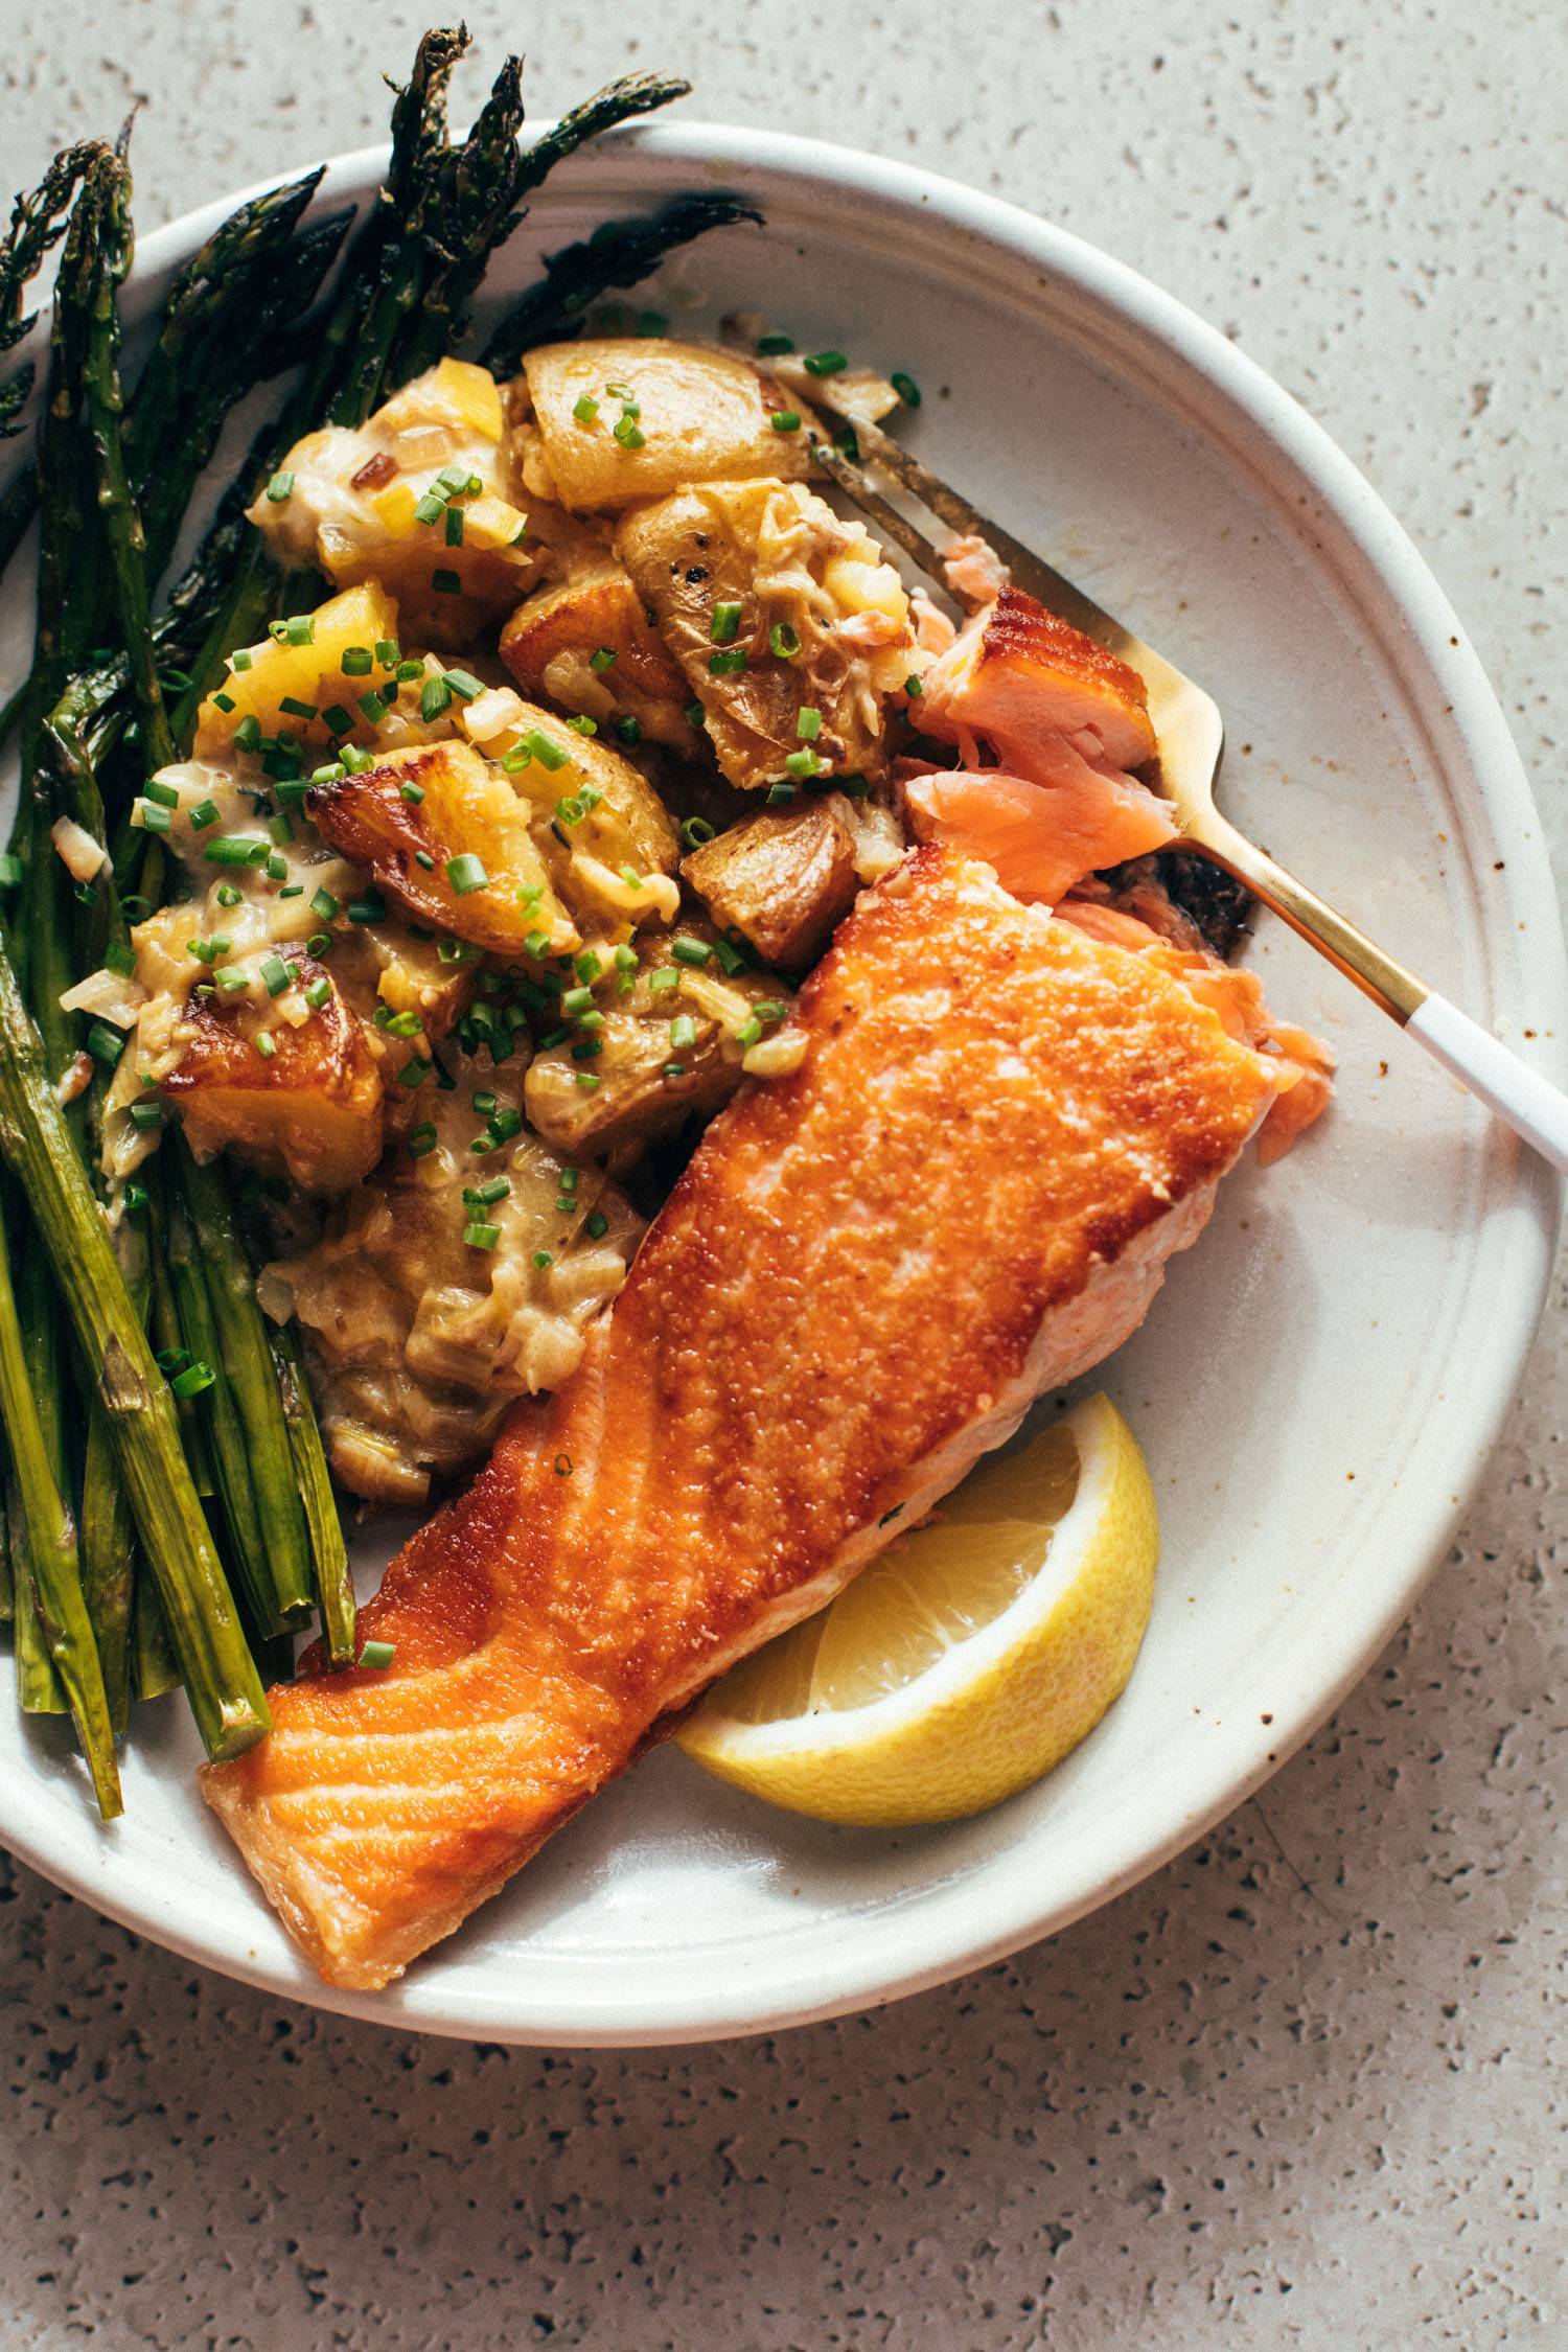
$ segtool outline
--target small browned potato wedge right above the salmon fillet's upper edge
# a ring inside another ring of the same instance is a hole
[[[832,807],[764,809],[682,861],[722,931],[741,931],[764,964],[804,971],[853,906],[856,837]]]

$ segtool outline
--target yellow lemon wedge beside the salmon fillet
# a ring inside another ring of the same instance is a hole
[[[724,1675],[677,1740],[818,1820],[978,1813],[1060,1764],[1119,1696],[1157,1559],[1138,1439],[1088,1397]]]

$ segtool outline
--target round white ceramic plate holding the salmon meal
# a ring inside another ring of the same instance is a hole
[[[378,155],[334,167],[362,198]],[[1561,1075],[1563,953],[1535,809],[1432,576],[1324,433],[1145,280],[992,198],[759,132],[644,127],[562,169],[491,270],[689,186],[757,198],[665,308],[766,308],[907,367],[910,437],[1208,684],[1239,821]],[[146,240],[153,294],[228,207]],[[0,609],[14,642],[26,600]],[[980,1820],[849,1832],[663,1750],[393,1992],[324,1990],[197,1802],[176,1700],[143,1710],[99,1830],[66,1738],[0,1703],[0,1837],[160,1943],[324,2009],[496,2042],[679,2042],[832,2016],[1046,1936],[1234,1806],[1366,1668],[1497,1437],[1542,1308],[1556,1188],[1326,967],[1262,927],[1269,993],[1340,1049],[1333,1117],[1229,1178],[1098,1378],[1164,1517],[1154,1623],[1107,1722]],[[367,1555],[367,1578],[386,1557]],[[153,1726],[150,1731],[146,1726]]]

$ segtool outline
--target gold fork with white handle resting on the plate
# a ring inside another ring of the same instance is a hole
[[[837,407],[830,383],[816,383],[813,397],[820,407],[846,414]],[[1427,988],[1406,964],[1387,955],[1375,941],[1347,922],[1335,908],[1309,891],[1295,875],[1288,875],[1265,849],[1248,842],[1244,833],[1220,816],[1213,800],[1213,779],[1225,743],[1220,706],[1211,694],[1182,670],[1178,670],[1152,644],[1135,637],[1121,621],[1112,621],[1081,588],[1053,572],[1048,562],[1025,548],[999,522],[990,522],[978,508],[950,489],[940,475],[912,459],[910,452],[860,419],[849,419],[856,430],[860,454],[912,492],[938,522],[952,532],[973,534],[997,550],[1011,579],[1027,595],[1039,597],[1063,621],[1072,621],[1086,637],[1105,644],[1131,670],[1138,670],[1150,694],[1150,722],[1159,741],[1159,774],[1152,790],[1171,802],[1182,840],[1199,849],[1225,873],[1244,882],[1255,898],[1274,910],[1293,931],[1300,931],[1319,955],[1354,981],[1356,988],[1380,1004],[1408,1037],[1425,1044],[1427,1054],[1486,1103],[1516,1136],[1523,1136],[1542,1160],[1559,1174],[1568,1174],[1568,1094],[1561,1094],[1519,1054],[1509,1051],[1479,1021],[1462,1014],[1458,1004]],[[863,466],[844,449],[813,435],[811,452],[820,470],[858,506],[896,546],[905,550],[936,579],[947,586],[940,550],[919,532],[907,515],[875,489]]]

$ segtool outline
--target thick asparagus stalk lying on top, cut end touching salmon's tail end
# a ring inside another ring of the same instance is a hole
[[[0,1155],[33,1204],[82,1359],[94,1371],[207,1755],[242,1755],[270,1726],[266,1698],[181,1454],[174,1397],[125,1289],[2,943]]]

